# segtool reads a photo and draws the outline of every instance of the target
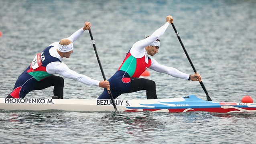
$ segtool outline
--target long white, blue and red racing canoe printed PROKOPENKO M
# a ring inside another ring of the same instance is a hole
[[[256,103],[205,101],[189,95],[169,99],[115,99],[118,112],[256,112]],[[63,110],[114,112],[110,99],[8,99],[0,98],[0,110]]]

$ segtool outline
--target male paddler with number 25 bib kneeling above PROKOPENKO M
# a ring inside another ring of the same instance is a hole
[[[110,88],[109,81],[91,79],[69,69],[67,65],[61,62],[63,57],[70,57],[71,53],[73,53],[73,42],[79,39],[83,32],[89,28],[91,28],[91,23],[85,22],[83,28],[77,30],[70,37],[52,43],[41,53],[38,53],[27,69],[18,77],[14,89],[7,98],[24,98],[30,91],[54,86],[54,96],[52,98],[63,99],[63,77],[80,81],[86,85]],[[63,77],[55,76],[54,74],[59,74]]]

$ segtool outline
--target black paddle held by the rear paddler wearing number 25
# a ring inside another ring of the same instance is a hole
[[[95,55],[96,55],[96,57],[97,57],[97,60],[98,60],[99,66],[100,66],[100,71],[102,71],[103,79],[104,79],[104,81],[106,81],[107,79],[106,79],[106,76],[105,76],[105,74],[104,74],[104,71],[103,71],[103,68],[102,68],[102,64],[101,64],[101,62],[100,62],[99,55],[98,55],[98,53],[97,53],[97,49],[96,49],[96,46],[95,46],[95,41],[93,40],[93,37],[92,37],[92,34],[91,34],[91,29],[89,29],[89,33],[90,33],[90,37],[91,37],[91,42],[92,42],[92,45],[93,45],[93,49],[94,49],[94,51],[95,51]],[[112,101],[112,103],[113,103],[113,106],[114,106],[115,112],[116,112],[116,110],[117,110],[117,108],[116,108],[116,103],[115,103],[114,98],[113,98],[113,96],[112,96],[112,94],[111,94],[110,88],[107,88],[107,90],[108,90],[108,94],[109,94],[109,96],[110,96],[110,99],[111,99],[111,101]]]

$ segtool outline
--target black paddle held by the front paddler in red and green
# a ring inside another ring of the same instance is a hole
[[[186,51],[186,49],[185,49],[185,47],[184,47],[184,45],[183,45],[183,43],[182,43],[182,41],[181,41],[181,38],[179,37],[179,32],[177,32],[177,30],[176,30],[176,28],[175,28],[175,26],[174,26],[174,24],[173,24],[173,19],[171,19],[171,24],[172,24],[173,29],[174,29],[174,31],[175,31],[175,33],[176,33],[178,39],[179,39],[179,42],[181,43],[181,47],[183,48],[183,51],[185,52],[185,54],[186,54],[186,56],[187,56],[187,59],[189,59],[189,63],[190,63],[190,65],[191,65],[191,67],[193,68],[195,74],[198,74],[198,73],[197,73],[197,70],[195,69],[195,67],[194,67],[194,65],[193,65],[193,63],[192,63],[192,61],[191,61],[191,59],[189,58],[189,54],[187,53],[187,51]],[[199,80],[199,83],[200,83],[201,87],[203,88],[203,90],[205,91],[207,100],[208,100],[208,101],[212,101],[211,98],[210,98],[210,96],[208,95],[208,92],[207,92],[205,86],[203,85],[203,81],[202,81],[202,80]]]

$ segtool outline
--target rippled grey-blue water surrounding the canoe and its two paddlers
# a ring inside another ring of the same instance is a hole
[[[213,101],[256,99],[256,2],[253,0],[1,0],[0,95],[6,97],[34,55],[52,42],[92,24],[106,77],[112,76],[133,43],[171,14],[183,44]],[[102,80],[89,32],[63,59],[69,68]],[[172,26],[154,56],[159,63],[193,73]],[[158,98],[195,94],[197,82],[150,71]],[[26,97],[49,98],[53,88]],[[65,79],[66,99],[95,99],[102,89]],[[145,91],[119,99],[146,99]],[[255,143],[255,114],[80,113],[0,111],[0,143]]]

